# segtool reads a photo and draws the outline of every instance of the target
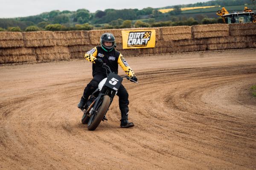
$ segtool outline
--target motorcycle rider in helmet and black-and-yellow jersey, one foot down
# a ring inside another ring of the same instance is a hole
[[[84,94],[77,105],[78,108],[84,108],[89,96],[98,88],[99,82],[107,77],[105,68],[102,68],[103,63],[106,63],[115,74],[118,73],[119,64],[125,73],[137,82],[134,71],[132,71],[122,54],[115,50],[115,47],[116,42],[113,34],[104,33],[100,38],[100,46],[94,47],[84,55],[87,61],[93,63],[93,79],[84,88]],[[120,127],[133,127],[134,124],[128,121],[128,92],[122,84],[116,95],[119,96],[119,109],[122,117]]]

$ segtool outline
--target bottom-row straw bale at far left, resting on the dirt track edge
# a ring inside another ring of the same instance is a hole
[[[10,55],[10,56],[1,56],[0,64],[6,63],[17,63],[17,62],[33,62],[36,61],[35,54],[32,55]]]

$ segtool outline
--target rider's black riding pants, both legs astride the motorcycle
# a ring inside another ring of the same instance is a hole
[[[88,85],[84,88],[84,99],[88,99],[89,96],[98,88],[99,82],[102,79],[106,78],[106,75],[102,74],[95,74],[93,79],[88,83]],[[124,118],[125,116],[128,117],[129,112],[129,100],[128,100],[128,92],[126,91],[125,87],[121,84],[117,94],[119,96],[119,109],[121,111],[121,116]]]

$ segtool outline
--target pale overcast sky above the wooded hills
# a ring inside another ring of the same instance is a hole
[[[0,18],[27,17],[52,10],[76,11],[86,8],[95,12],[108,8],[160,8],[207,1],[209,0],[0,0]]]

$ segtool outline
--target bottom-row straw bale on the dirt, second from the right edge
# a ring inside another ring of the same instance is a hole
[[[231,42],[222,44],[208,44],[208,50],[223,50],[223,49],[236,49],[236,48],[246,48],[246,42]]]

